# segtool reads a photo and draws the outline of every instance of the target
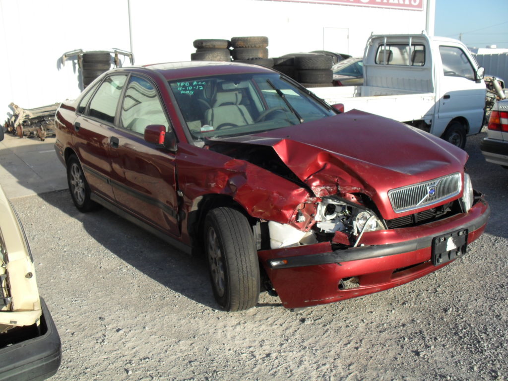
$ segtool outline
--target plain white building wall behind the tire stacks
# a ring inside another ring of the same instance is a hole
[[[433,17],[433,0],[427,1]],[[76,62],[59,64],[70,50],[129,51],[132,43],[135,64],[145,65],[189,60],[196,39],[267,36],[271,57],[323,48],[359,56],[372,31],[420,33],[427,18],[426,6],[406,11],[263,0],[130,0],[131,42],[128,4],[0,0],[0,122],[10,102],[34,108],[78,96]],[[334,38],[340,41],[334,44]]]

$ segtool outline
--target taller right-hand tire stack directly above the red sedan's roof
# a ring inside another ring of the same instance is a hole
[[[235,62],[273,67],[273,58],[268,58],[268,37],[232,37],[231,55]]]

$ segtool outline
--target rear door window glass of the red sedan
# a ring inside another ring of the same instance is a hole
[[[113,123],[115,121],[116,106],[126,79],[127,76],[125,75],[107,77],[94,94],[90,102],[88,115]]]

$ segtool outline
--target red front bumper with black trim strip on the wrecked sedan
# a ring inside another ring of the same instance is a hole
[[[365,233],[355,248],[332,250],[330,242],[258,252],[286,308],[332,303],[387,290],[431,273],[448,263],[431,262],[435,237],[466,229],[467,243],[485,230],[490,207],[479,197],[468,213],[422,226]],[[284,260],[273,266],[273,261]],[[342,280],[357,287],[340,289]]]

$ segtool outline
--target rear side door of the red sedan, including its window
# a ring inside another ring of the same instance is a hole
[[[94,193],[114,200],[111,188],[110,138],[115,113],[127,76],[112,75],[93,88],[78,106],[74,145],[86,180]]]

